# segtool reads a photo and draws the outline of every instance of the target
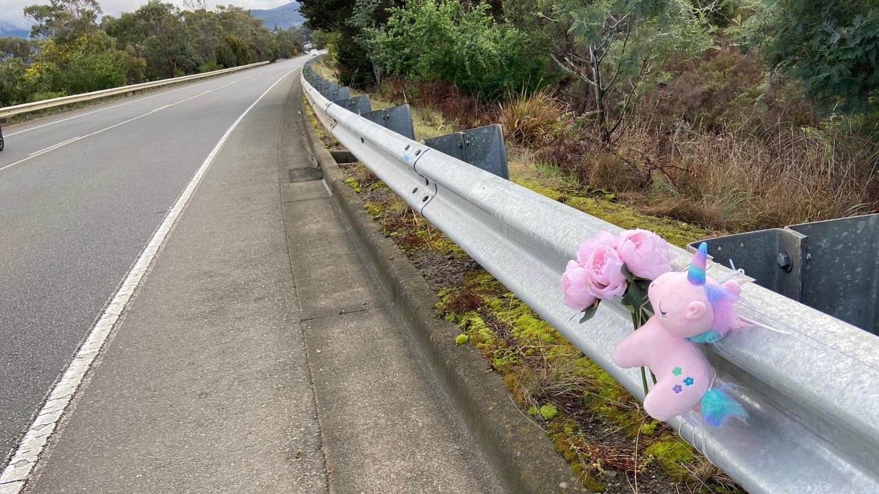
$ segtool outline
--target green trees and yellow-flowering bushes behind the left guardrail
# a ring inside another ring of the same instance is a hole
[[[309,30],[266,29],[233,5],[181,10],[149,0],[119,18],[97,0],[25,7],[31,38],[0,38],[0,107],[274,61],[302,53]]]

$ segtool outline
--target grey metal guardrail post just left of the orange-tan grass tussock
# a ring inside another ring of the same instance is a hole
[[[425,139],[425,144],[500,178],[510,179],[506,164],[504,127],[499,124],[431,137]]]

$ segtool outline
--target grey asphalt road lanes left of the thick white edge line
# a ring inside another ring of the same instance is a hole
[[[222,135],[305,60],[4,127],[0,464]]]

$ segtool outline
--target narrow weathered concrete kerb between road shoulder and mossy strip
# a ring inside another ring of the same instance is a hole
[[[471,432],[511,492],[587,492],[546,434],[512,402],[497,374],[486,374],[483,356],[472,345],[454,345],[461,331],[434,316],[438,299],[421,273],[367,214],[330,151],[317,137],[299,98],[302,126],[323,181],[347,229],[374,272],[392,294],[415,339],[430,357],[447,392],[454,397]]]

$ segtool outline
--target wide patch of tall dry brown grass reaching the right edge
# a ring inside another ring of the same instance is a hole
[[[761,134],[667,136],[635,126],[622,141],[652,149],[645,196],[652,209],[716,229],[747,230],[875,211],[876,145],[839,127],[783,123]],[[636,156],[632,161],[636,161]],[[649,158],[642,157],[642,160]]]

